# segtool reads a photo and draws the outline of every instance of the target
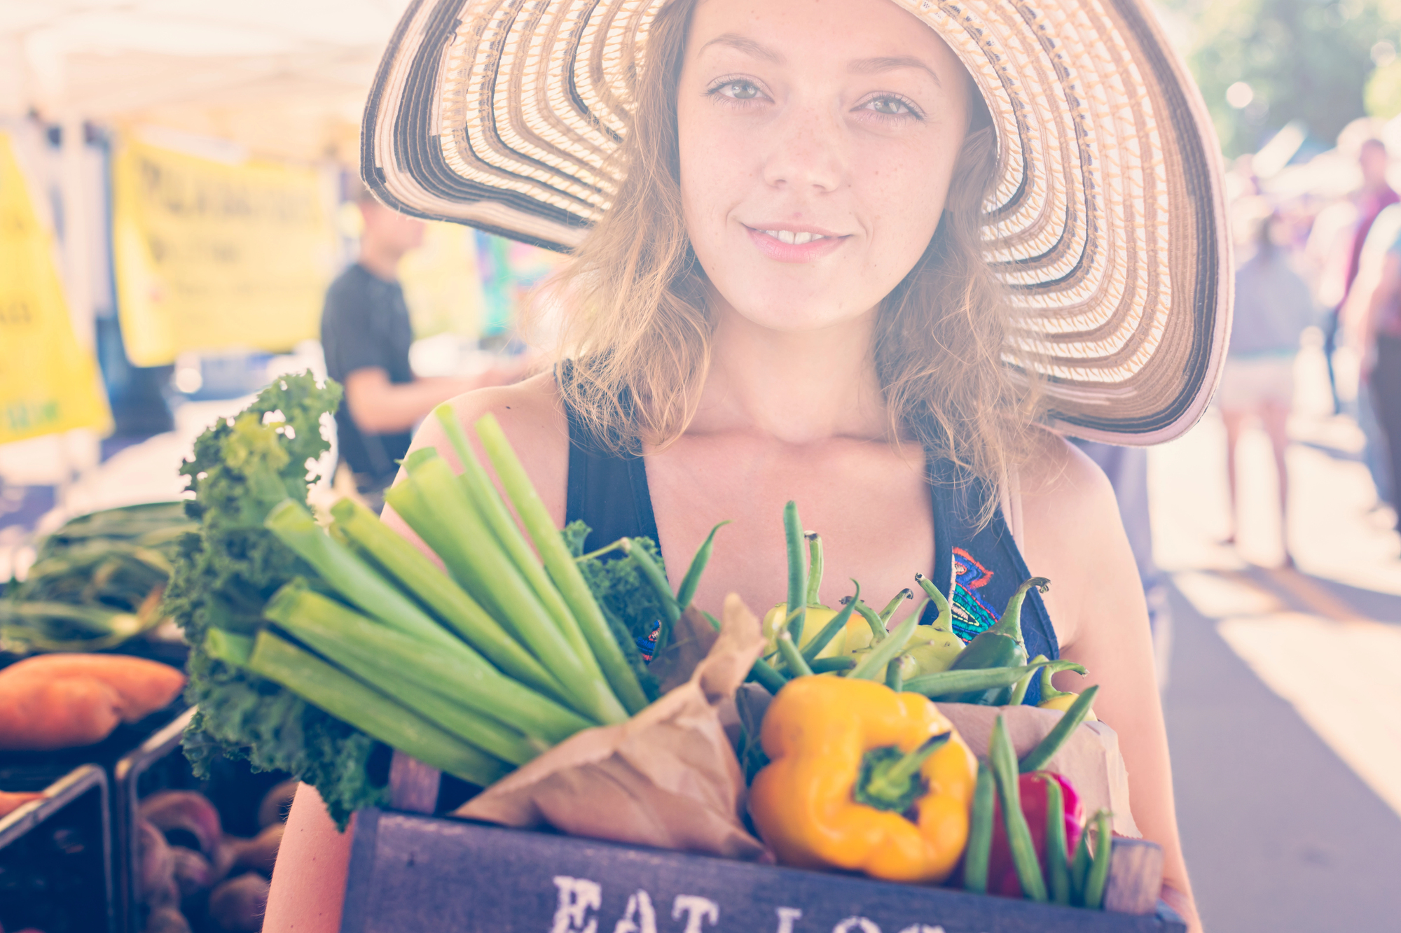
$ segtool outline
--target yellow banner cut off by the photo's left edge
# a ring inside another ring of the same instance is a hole
[[[73,333],[53,238],[0,133],[0,444],[109,422],[97,361]]]

